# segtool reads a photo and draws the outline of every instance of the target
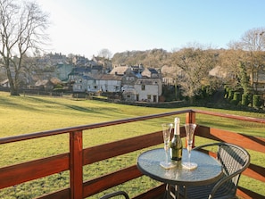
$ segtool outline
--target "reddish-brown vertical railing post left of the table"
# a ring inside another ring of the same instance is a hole
[[[83,198],[82,131],[70,132],[70,199]]]

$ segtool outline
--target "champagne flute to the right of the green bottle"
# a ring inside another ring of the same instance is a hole
[[[184,125],[186,131],[186,149],[188,152],[188,162],[182,162],[182,166],[188,170],[194,170],[197,167],[197,164],[195,162],[190,162],[196,126],[197,125],[193,123],[188,123]]]

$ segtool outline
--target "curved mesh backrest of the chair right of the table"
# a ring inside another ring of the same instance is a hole
[[[241,146],[228,143],[218,143],[219,150],[217,158],[223,166],[223,173],[226,176],[234,176],[231,180],[237,187],[241,173],[250,163],[250,155]]]

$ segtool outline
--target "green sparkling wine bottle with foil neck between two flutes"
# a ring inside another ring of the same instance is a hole
[[[174,124],[174,137],[171,140],[170,143],[170,157],[174,161],[180,161],[182,158],[182,141],[180,137],[180,129],[179,129],[179,118],[175,118]]]

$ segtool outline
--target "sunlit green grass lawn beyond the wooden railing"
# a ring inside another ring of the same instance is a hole
[[[196,107],[196,109],[265,118],[264,114],[254,112],[236,112],[206,109],[203,107]],[[147,108],[61,97],[28,95],[10,96],[8,93],[0,92],[0,137],[10,137],[44,130],[61,129],[178,110],[181,109]],[[185,121],[185,114],[178,115],[178,117],[182,123]],[[172,122],[173,117],[165,117],[159,120],[138,121],[104,129],[87,130],[84,132],[83,136],[84,147],[101,145],[118,139],[135,137],[161,130],[161,122],[163,121]],[[247,135],[265,137],[264,124],[220,119],[218,117],[201,114],[196,115],[196,123],[219,129],[228,129]],[[196,139],[196,145],[201,145],[205,142],[207,142],[206,139],[200,137]],[[34,141],[22,141],[19,145],[15,143],[0,145],[0,167],[11,165],[13,163],[26,162],[57,153],[66,153],[68,151],[69,144],[67,135],[37,138]],[[96,162],[93,165],[86,166],[84,168],[84,178],[94,178],[95,176],[108,173],[111,170],[119,170],[121,167],[135,164],[138,153],[140,152],[122,155],[111,160]],[[252,162],[261,166],[264,165],[264,154],[250,153],[252,154]],[[137,195],[137,193],[142,192],[146,188],[153,187],[153,185],[157,184],[156,181],[151,180],[150,178],[141,177],[115,188],[124,189],[129,195]],[[263,185],[260,182],[253,182],[252,180],[250,186],[249,178],[242,178],[240,185],[248,187],[261,195],[265,195],[265,191],[262,188]],[[50,193],[62,187],[69,187],[68,171],[50,177],[33,180],[20,186],[2,189],[0,190],[0,198],[33,198],[37,195]],[[90,198],[98,198],[98,195]]]

